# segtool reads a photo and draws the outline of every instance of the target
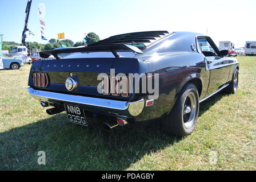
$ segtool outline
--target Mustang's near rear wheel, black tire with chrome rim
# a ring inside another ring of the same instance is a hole
[[[189,83],[183,87],[170,114],[162,120],[163,131],[183,137],[190,135],[197,123],[199,96],[197,87]]]

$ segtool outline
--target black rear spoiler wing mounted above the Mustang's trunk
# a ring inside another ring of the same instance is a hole
[[[109,44],[104,46],[87,46],[79,48],[67,48],[58,50],[49,50],[39,52],[40,57],[48,58],[53,55],[56,59],[60,59],[59,53],[74,53],[74,52],[112,52],[115,57],[121,57],[117,51],[133,51],[137,53],[143,53],[141,49],[128,44]]]

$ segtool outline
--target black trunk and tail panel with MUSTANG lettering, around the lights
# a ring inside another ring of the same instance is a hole
[[[33,63],[30,71],[29,86],[34,89],[49,90],[67,94],[82,96],[111,97],[118,100],[129,100],[132,97],[105,96],[98,93],[97,86],[101,80],[97,80],[99,73],[110,75],[110,69],[117,73],[140,73],[140,64],[146,64],[134,58],[79,58],[41,60]],[[143,67],[145,68],[145,67]],[[49,76],[50,84],[47,88],[37,88],[33,85],[33,73],[42,72]],[[78,88],[68,91],[65,86],[66,79],[72,75],[77,78]]]

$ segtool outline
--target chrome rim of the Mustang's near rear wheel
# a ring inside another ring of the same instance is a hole
[[[190,92],[183,103],[182,119],[184,126],[189,129],[194,121],[197,113],[197,100],[195,94]]]

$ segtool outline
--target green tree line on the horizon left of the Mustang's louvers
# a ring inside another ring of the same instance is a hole
[[[99,36],[94,32],[90,32],[89,34],[87,34],[87,36],[84,39],[86,40],[86,44],[92,44],[100,40]],[[34,50],[43,51],[43,50],[51,50],[59,47],[78,47],[78,46],[85,45],[83,41],[74,43],[70,39],[64,39],[64,40],[50,39],[47,44],[40,44],[38,42],[26,42],[26,44],[27,44],[27,49],[29,49],[29,52],[31,51],[31,53],[33,53]],[[2,42],[2,50],[8,50],[9,52],[11,52],[11,48],[15,46],[22,46],[22,44],[19,44],[16,42],[8,42],[8,41]]]

